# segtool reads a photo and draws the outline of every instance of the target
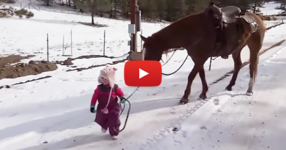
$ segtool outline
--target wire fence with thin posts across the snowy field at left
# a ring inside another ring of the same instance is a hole
[[[122,38],[125,37],[125,38]],[[36,55],[48,61],[81,55],[122,56],[129,52],[128,34],[114,34],[108,30],[69,33],[34,33],[11,36],[0,35],[1,54]],[[139,41],[140,42],[140,41]],[[139,45],[140,46],[140,45]]]

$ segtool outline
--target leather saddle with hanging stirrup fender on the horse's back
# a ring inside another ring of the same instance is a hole
[[[217,30],[217,42],[215,46],[215,53],[217,53],[218,56],[221,56],[223,59],[227,59],[230,54],[232,54],[234,51],[239,49],[238,46],[240,46],[242,43],[241,39],[242,37],[237,37],[237,41],[231,41],[228,42],[228,36],[227,36],[227,28],[230,24],[237,23],[238,21],[246,21],[245,25],[242,25],[242,29],[244,29],[243,33],[254,33],[258,26],[256,24],[255,18],[252,16],[246,14],[245,12],[242,12],[239,7],[236,6],[225,6],[220,8],[221,12],[221,27]],[[233,45],[233,46],[230,46]],[[233,48],[230,48],[233,47]]]

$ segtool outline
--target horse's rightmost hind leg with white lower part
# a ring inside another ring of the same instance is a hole
[[[248,89],[246,94],[252,95],[253,94],[253,85],[255,83],[256,75],[257,75],[257,66],[259,61],[259,50],[262,47],[262,42],[257,42],[253,39],[249,39],[247,43],[250,51],[250,59],[249,59],[249,83],[248,83]]]

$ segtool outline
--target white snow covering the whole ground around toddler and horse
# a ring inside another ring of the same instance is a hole
[[[265,6],[265,9],[268,8]],[[273,10],[273,9],[269,9]],[[106,31],[106,55],[122,56],[129,51],[127,41],[129,21],[95,18],[108,27],[93,28],[76,22],[89,22],[85,15],[34,11],[31,19],[0,19],[0,54],[35,55],[33,60],[46,59],[47,33],[50,60],[65,60],[62,56],[63,37],[70,46],[73,34],[73,58],[103,53],[103,33]],[[266,12],[267,13],[267,12]],[[266,22],[271,26],[279,22]],[[21,24],[21,26],[19,26]],[[164,27],[163,24],[143,23],[143,35],[148,36]],[[286,25],[266,32],[262,50],[286,39]],[[140,40],[138,41],[140,42]],[[140,45],[140,44],[138,44]],[[193,62],[189,58],[181,70],[164,76],[158,87],[139,88],[130,98],[131,116],[119,140],[112,141],[102,134],[89,113],[90,99],[97,85],[102,67],[81,72],[66,72],[70,67],[58,66],[55,71],[2,79],[1,85],[11,85],[30,79],[52,76],[44,80],[12,86],[0,90],[0,149],[2,150],[174,150],[174,149],[234,149],[284,150],[286,104],[284,71],[285,43],[274,47],[260,57],[254,96],[244,95],[248,86],[248,66],[238,76],[232,92],[224,91],[230,81],[210,86],[207,101],[197,100],[201,91],[199,77],[193,82],[191,102],[178,106]],[[139,46],[140,48],[140,46]],[[70,47],[65,54],[69,54]],[[163,66],[164,73],[175,71],[186,56],[178,51]],[[249,58],[248,48],[242,60]],[[118,58],[119,59],[119,58]],[[167,58],[165,58],[167,59]],[[77,67],[104,64],[114,59],[90,58],[73,61]],[[28,62],[29,59],[23,60]],[[126,96],[136,88],[123,81],[124,63],[118,68],[117,84]],[[209,62],[205,64],[206,70]],[[232,70],[232,59],[217,58],[212,70],[206,71],[208,83]],[[263,112],[263,113],[262,113]],[[121,116],[122,122],[125,113]],[[180,129],[174,133],[172,129]]]

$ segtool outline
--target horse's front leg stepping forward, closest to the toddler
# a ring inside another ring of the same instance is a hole
[[[185,89],[185,93],[184,96],[181,98],[180,103],[188,103],[189,102],[189,95],[191,94],[191,85],[193,83],[193,80],[195,79],[197,73],[203,69],[203,65],[201,64],[195,64],[195,66],[193,67],[192,71],[189,74],[188,77],[188,84],[187,87]]]

